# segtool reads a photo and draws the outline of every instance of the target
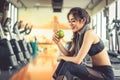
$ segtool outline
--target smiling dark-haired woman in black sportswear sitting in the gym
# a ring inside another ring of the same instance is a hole
[[[90,16],[79,7],[72,8],[67,15],[73,31],[72,46],[66,50],[54,32],[53,41],[64,54],[58,57],[61,61],[53,77],[55,80],[70,80],[74,75],[81,80],[114,80],[114,74],[107,51],[102,40],[90,29]],[[92,66],[82,63],[89,55]]]

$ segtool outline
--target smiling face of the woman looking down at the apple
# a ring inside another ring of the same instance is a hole
[[[75,19],[74,16],[72,14],[69,15],[69,24],[70,24],[70,27],[72,29],[73,32],[77,32],[79,31],[80,29],[82,29],[82,27],[84,26],[85,24],[85,20],[83,19]]]

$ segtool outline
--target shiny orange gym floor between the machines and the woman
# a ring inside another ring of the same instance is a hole
[[[51,80],[58,64],[57,56],[57,50],[52,49],[39,53],[35,59],[31,60],[10,80]]]

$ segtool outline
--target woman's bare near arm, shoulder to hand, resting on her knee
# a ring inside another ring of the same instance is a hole
[[[71,61],[73,63],[80,64],[82,60],[85,58],[85,56],[87,55],[95,38],[96,38],[96,34],[92,30],[87,31],[84,35],[83,43],[77,56],[73,56],[73,57],[59,56],[58,60],[63,59],[65,61]]]

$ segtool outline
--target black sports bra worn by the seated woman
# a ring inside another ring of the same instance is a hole
[[[100,41],[96,44],[92,44],[90,50],[88,51],[88,54],[90,56],[96,55],[97,53],[101,52],[103,49],[105,48],[102,40],[100,39]]]

